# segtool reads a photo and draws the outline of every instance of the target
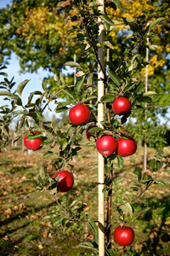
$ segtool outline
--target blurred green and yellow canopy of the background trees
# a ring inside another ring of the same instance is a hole
[[[86,2],[87,6],[89,5],[88,1],[83,2]],[[150,48],[150,90],[155,90],[158,93],[156,104],[159,107],[159,112],[164,113],[169,105],[168,93],[170,92],[169,1],[122,0],[122,7],[122,9],[116,9],[115,3],[111,1],[105,3],[105,12],[111,17],[111,20],[120,20],[120,23],[115,23],[111,32],[106,35],[106,38],[111,39],[113,45],[110,53],[113,62],[117,58],[127,57],[125,50],[127,41],[123,40],[124,36],[128,37],[129,43],[135,43],[136,40],[127,34],[124,23],[127,22],[127,26],[129,26],[131,24],[129,20],[133,20],[136,15],[140,15],[141,20],[144,15],[150,15],[153,20],[158,17],[165,18],[160,26],[154,28],[156,36],[150,32],[148,46]],[[85,61],[81,55],[81,49],[83,51],[85,47],[80,43],[75,43],[76,38],[80,39],[83,34],[74,35],[74,25],[82,26],[81,19],[77,15],[77,9],[72,9],[70,0],[64,2],[55,0],[13,1],[11,6],[0,10],[0,53],[10,57],[14,51],[20,59],[20,67],[23,72],[34,72],[42,67],[59,73],[66,61],[73,61],[74,54],[77,55],[78,62],[83,63]],[[138,31],[139,26],[140,24],[136,23],[130,28],[135,32]],[[74,39],[74,43],[71,38]],[[143,49],[140,48],[139,53],[141,51],[145,58],[145,45]],[[145,67],[140,73],[142,79],[144,79],[144,74]]]

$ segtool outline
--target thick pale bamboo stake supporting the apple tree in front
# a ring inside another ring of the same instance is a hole
[[[99,10],[104,13],[105,2],[104,0],[99,0],[101,6]],[[102,20],[98,20],[99,26],[99,43],[105,41],[105,26]],[[104,96],[105,90],[105,50],[104,48],[98,49],[98,125],[101,125],[101,121],[104,120],[104,103],[100,102],[102,96]],[[99,172],[99,191],[98,191],[98,221],[99,221],[99,256],[105,256],[105,198],[104,198],[104,182],[105,182],[105,160],[102,154],[98,154],[98,172]]]

